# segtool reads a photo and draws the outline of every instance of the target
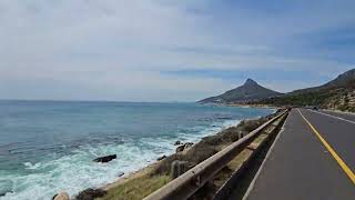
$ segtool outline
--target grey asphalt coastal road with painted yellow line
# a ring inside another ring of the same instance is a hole
[[[355,171],[355,124],[300,110],[344,162],[334,158],[332,150],[293,109],[246,199],[354,200],[355,182],[351,178]]]

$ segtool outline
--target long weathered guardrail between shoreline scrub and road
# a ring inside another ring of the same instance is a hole
[[[183,200],[194,194],[211,180],[233,158],[243,151],[267,126],[286,114],[287,110],[268,120],[244,138],[235,141],[220,152],[199,163],[164,187],[151,193],[144,200]]]

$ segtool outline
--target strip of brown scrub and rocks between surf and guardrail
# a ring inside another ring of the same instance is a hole
[[[176,141],[176,152],[171,156],[163,156],[156,159],[156,162],[142,168],[135,172],[119,178],[115,182],[109,183],[98,189],[87,189],[80,192],[75,199],[90,200],[104,197],[118,187],[124,186],[126,182],[140,179],[141,177],[168,176],[176,178],[203,160],[215,154],[229,144],[237,141],[252,130],[256,129],[267,120],[272,119],[278,111],[273,114],[261,117],[257,119],[246,119],[239,124],[226,128],[216,134],[202,138],[197,143]],[[53,198],[55,199],[55,198]],[[103,198],[104,199],[104,198]],[[108,198],[110,199],[110,198]],[[57,199],[55,199],[57,200]],[[63,199],[61,199],[63,200]]]

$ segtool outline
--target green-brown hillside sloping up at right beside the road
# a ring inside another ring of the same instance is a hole
[[[355,69],[339,74],[320,87],[295,90],[281,97],[250,103],[273,106],[317,106],[343,111],[355,111]]]

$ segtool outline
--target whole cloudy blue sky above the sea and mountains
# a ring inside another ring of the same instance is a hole
[[[355,68],[354,0],[0,0],[0,99],[195,101]]]

